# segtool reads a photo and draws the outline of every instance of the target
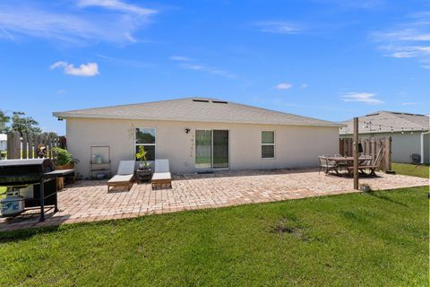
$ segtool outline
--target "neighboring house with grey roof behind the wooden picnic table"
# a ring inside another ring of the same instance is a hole
[[[393,162],[411,162],[412,154],[419,154],[421,163],[429,163],[430,117],[409,113],[377,111],[358,118],[360,137],[391,136]],[[340,137],[352,137],[352,119],[344,122]]]

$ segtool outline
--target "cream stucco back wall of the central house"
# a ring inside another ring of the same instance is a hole
[[[137,127],[156,128],[156,158],[169,159],[173,173],[197,171],[195,129],[229,130],[230,170],[314,167],[318,155],[339,152],[338,127],[67,118],[67,148],[80,160],[77,171],[83,178],[88,177],[90,146],[109,145],[111,170],[116,173],[119,161],[134,159]],[[189,134],[185,128],[191,129]],[[262,159],[262,131],[275,131],[275,159]]]

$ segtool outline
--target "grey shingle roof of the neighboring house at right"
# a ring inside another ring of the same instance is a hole
[[[358,117],[358,121],[359,134],[428,131],[430,128],[429,116],[384,110]],[[340,128],[340,135],[351,135],[353,133],[353,120],[350,119],[343,124],[346,126]]]

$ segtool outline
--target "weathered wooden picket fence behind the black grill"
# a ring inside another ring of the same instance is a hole
[[[44,152],[40,152],[44,147]],[[7,134],[7,159],[55,158],[54,147],[65,148],[65,137],[47,134]]]

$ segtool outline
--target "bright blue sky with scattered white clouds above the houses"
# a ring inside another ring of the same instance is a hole
[[[430,1],[0,3],[0,109],[212,97],[329,120],[429,114]]]

